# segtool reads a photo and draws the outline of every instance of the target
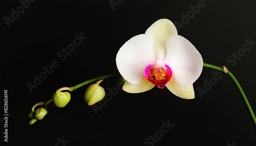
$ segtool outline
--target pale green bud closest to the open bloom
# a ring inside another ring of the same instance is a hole
[[[99,80],[96,84],[91,84],[84,93],[84,101],[86,101],[89,106],[94,105],[104,98],[105,90],[103,87],[99,86],[99,83],[102,81],[103,80]]]

